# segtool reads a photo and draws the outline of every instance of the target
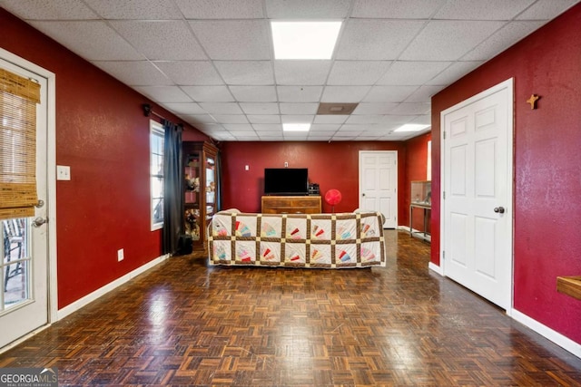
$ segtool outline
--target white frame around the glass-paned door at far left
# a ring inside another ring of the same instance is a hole
[[[58,289],[56,281],[56,103],[55,103],[55,89],[56,89],[56,75],[48,70],[38,66],[37,64],[31,63],[20,56],[10,53],[3,48],[0,48],[0,58],[6,62],[13,63],[19,67],[26,69],[31,73],[36,73],[39,76],[46,79],[47,90],[46,90],[46,186],[48,195],[48,208],[47,218],[48,223],[44,225],[47,227],[48,233],[48,265],[47,265],[47,284],[48,284],[48,325],[54,323],[58,317]],[[46,326],[40,327],[38,330],[44,329]],[[24,337],[17,340],[15,343],[11,343],[4,347],[6,350],[16,343],[21,343],[25,338],[34,334],[25,335]]]

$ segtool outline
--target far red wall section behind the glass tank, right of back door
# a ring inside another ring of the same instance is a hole
[[[403,208],[409,208],[411,201],[411,181],[426,180],[428,175],[428,141],[432,139],[431,133],[423,134],[406,141],[408,158],[406,160],[406,184],[403,196]],[[422,209],[413,209],[413,227],[419,231],[424,231],[424,212]],[[409,226],[409,211],[406,211],[403,218],[399,218],[399,225]],[[429,212],[428,215],[429,217]],[[429,222],[428,222],[429,232]]]

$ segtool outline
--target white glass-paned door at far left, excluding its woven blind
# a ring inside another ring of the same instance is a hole
[[[36,73],[0,59],[0,68],[41,85],[36,105],[36,186],[44,205],[32,218],[0,220],[4,243],[0,247],[0,348],[48,323],[48,225],[47,218],[47,80]],[[1,119],[1,118],[0,118]],[[8,122],[8,123],[5,123]],[[0,131],[8,132],[3,121]],[[37,219],[37,227],[33,227]],[[14,227],[14,228],[13,228]]]

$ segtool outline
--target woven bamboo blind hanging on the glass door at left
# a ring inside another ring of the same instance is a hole
[[[34,216],[40,85],[0,69],[0,219]]]

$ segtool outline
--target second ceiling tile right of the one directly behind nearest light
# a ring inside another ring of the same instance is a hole
[[[441,73],[452,62],[394,62],[378,85],[420,85]]]

